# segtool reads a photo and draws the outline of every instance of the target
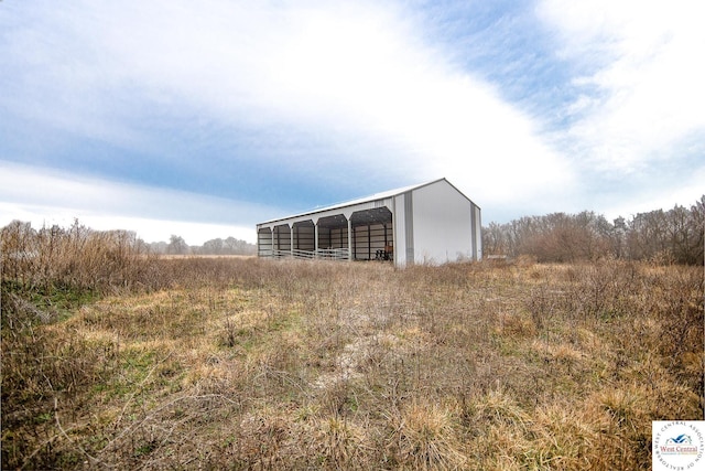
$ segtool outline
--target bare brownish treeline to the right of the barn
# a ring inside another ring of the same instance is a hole
[[[485,256],[521,255],[538,261],[614,257],[703,265],[705,195],[690,208],[639,213],[611,223],[603,215],[553,213],[482,228]]]

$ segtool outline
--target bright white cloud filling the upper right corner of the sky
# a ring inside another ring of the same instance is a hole
[[[586,71],[574,84],[592,97],[578,97],[584,115],[570,130],[582,157],[631,172],[693,152],[705,130],[705,4],[545,0],[539,12],[558,32],[561,56]]]

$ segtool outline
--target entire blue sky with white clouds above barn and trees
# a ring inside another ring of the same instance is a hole
[[[0,225],[254,240],[445,176],[485,224],[705,193],[699,1],[0,2]]]

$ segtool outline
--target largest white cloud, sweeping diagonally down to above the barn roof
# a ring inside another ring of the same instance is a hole
[[[142,101],[238,129],[303,129],[352,150],[325,165],[300,156],[302,169],[351,159],[411,181],[448,176],[486,205],[539,204],[575,183],[534,118],[425,41],[402,4],[83,2],[44,21],[63,54],[40,54],[51,78],[36,115],[99,138],[140,144],[130,113]]]

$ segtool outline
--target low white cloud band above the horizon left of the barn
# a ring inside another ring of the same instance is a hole
[[[216,237],[254,242],[254,224],[281,210],[174,190],[122,184],[0,161],[0,224],[129,229],[148,242],[183,236],[200,245]]]

